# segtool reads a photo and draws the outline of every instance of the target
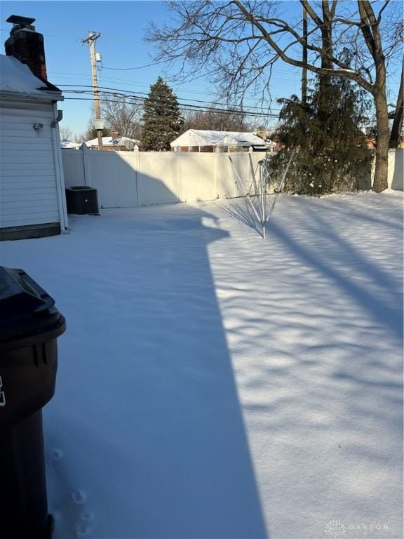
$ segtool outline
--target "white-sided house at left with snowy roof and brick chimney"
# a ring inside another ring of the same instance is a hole
[[[59,234],[67,228],[62,93],[46,80],[43,36],[34,19],[13,15],[8,22],[7,55],[0,55],[0,239]]]

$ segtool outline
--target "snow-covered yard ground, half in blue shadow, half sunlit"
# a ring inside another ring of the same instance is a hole
[[[402,537],[403,196],[104,210],[1,245],[67,318],[57,539]]]

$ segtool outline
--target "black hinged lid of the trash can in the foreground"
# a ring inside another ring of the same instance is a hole
[[[0,343],[41,333],[61,319],[55,300],[23,270],[0,266]]]

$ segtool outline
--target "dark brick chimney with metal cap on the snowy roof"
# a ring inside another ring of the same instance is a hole
[[[13,28],[4,44],[6,55],[18,58],[28,65],[34,75],[47,80],[43,35],[36,32],[32,26],[35,19],[11,15],[7,22],[11,22]]]

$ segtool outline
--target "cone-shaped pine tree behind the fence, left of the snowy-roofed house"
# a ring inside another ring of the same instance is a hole
[[[170,149],[172,142],[180,134],[184,123],[173,90],[159,76],[143,105],[142,149],[164,152]]]

